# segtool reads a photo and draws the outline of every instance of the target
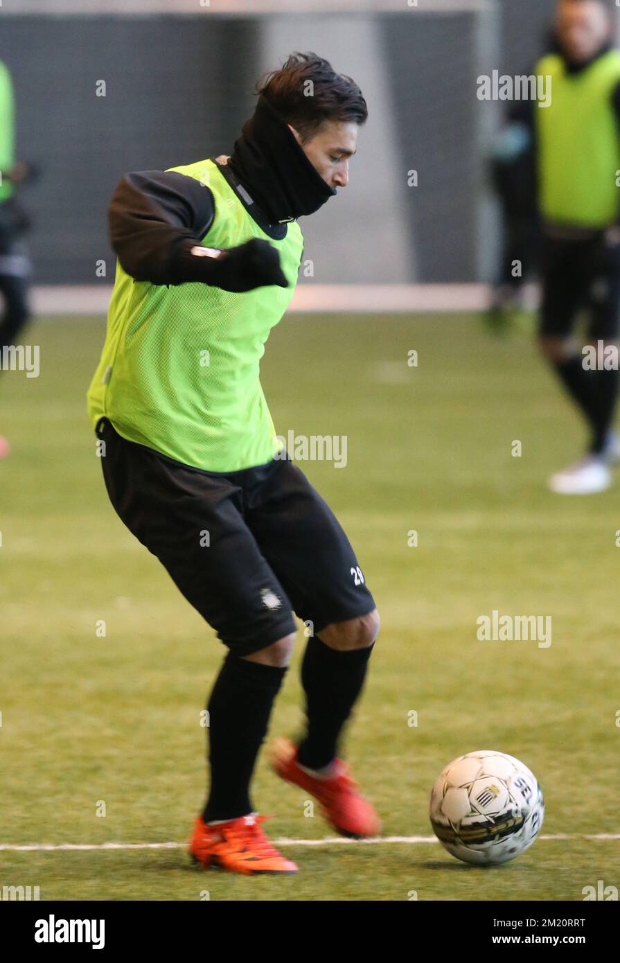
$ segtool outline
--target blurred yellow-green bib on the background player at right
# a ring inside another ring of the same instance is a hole
[[[573,74],[553,54],[535,72],[552,77],[551,105],[535,109],[541,213],[547,221],[608,227],[620,202],[618,120],[611,102],[620,53],[610,50]]]

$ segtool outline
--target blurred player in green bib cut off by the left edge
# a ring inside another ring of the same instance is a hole
[[[14,158],[14,98],[11,74],[0,62],[0,292],[4,300],[0,317],[0,360],[14,345],[28,320],[28,278],[30,261],[17,238],[29,226],[14,196],[15,188],[29,175],[29,169]],[[0,364],[0,372],[3,365]],[[9,442],[0,435],[0,458],[9,454]]]

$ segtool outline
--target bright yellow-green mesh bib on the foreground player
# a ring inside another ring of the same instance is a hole
[[[129,441],[196,468],[232,472],[270,461],[281,448],[260,383],[271,327],[297,284],[303,238],[297,221],[275,241],[254,221],[217,164],[172,168],[212,191],[206,247],[262,238],[276,247],[288,288],[236,294],[203,283],[136,281],[116,263],[106,342],[89,389],[93,426],[105,415]]]

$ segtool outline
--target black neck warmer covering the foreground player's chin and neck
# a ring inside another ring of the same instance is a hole
[[[336,195],[262,93],[228,164],[271,224],[314,214]]]

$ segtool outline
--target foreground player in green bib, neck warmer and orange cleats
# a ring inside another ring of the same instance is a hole
[[[297,219],[347,185],[367,106],[313,53],[293,54],[257,91],[230,156],[129,173],[116,187],[116,283],[89,390],[116,512],[228,648],[190,852],[242,873],[297,871],[249,796],[292,612],[314,631],[301,666],[307,725],[297,744],[275,743],[273,768],[338,832],[380,828],[337,755],[378,631],[375,602],[333,513],[279,450],[259,381],[297,282]]]

